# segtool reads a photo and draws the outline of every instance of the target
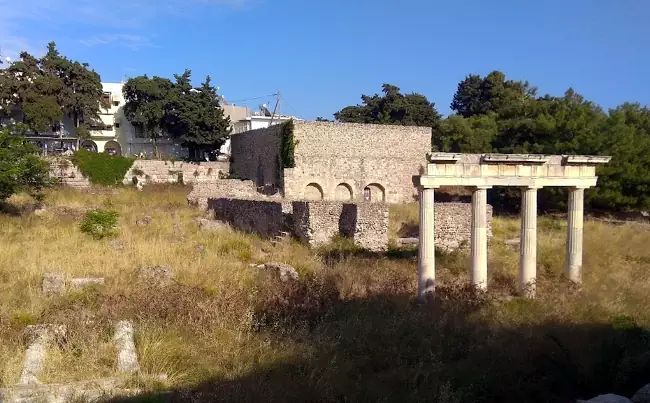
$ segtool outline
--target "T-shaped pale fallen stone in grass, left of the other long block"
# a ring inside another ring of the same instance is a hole
[[[23,370],[18,383],[21,385],[38,385],[38,375],[45,366],[45,353],[48,345],[57,337],[65,334],[65,327],[58,325],[30,325],[25,329],[29,347],[25,351]]]

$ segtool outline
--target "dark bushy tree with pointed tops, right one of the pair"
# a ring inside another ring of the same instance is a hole
[[[210,76],[198,89],[190,84],[191,71],[175,75],[166,106],[165,127],[188,148],[190,158],[198,160],[200,151],[219,149],[230,135],[230,118],[224,116]]]

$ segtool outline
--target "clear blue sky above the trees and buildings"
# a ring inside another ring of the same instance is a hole
[[[650,104],[649,21],[648,0],[0,0],[0,46],[55,40],[103,81],[189,68],[229,101],[280,89],[307,119],[382,83],[448,114],[458,82],[492,70],[609,108]]]

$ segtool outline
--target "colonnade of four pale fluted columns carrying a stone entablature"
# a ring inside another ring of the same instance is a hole
[[[569,188],[566,276],[582,281],[584,190],[596,186],[596,165],[611,157],[534,154],[430,153],[420,185],[420,248],[418,296],[435,292],[434,189],[465,186],[472,193],[471,285],[487,288],[487,190],[493,186],[521,189],[521,246],[519,290],[535,296],[537,277],[537,190],[545,186]]]

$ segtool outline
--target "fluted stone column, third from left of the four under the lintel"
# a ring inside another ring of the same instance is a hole
[[[537,188],[521,189],[521,241],[519,245],[519,292],[535,297],[537,280]]]

